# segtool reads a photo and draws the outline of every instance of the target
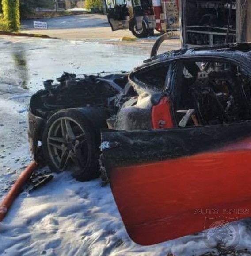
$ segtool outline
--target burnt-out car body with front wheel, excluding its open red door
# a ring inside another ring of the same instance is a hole
[[[76,178],[87,180],[99,175],[100,129],[251,120],[250,51],[248,43],[181,49],[154,56],[129,74],[65,73],[58,85],[46,81],[30,101],[34,159],[55,171],[71,167]]]

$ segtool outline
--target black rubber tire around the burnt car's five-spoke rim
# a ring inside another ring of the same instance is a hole
[[[53,146],[51,146],[50,143],[48,144],[49,140],[51,141],[51,138],[53,138],[53,137],[50,137],[49,139],[48,136],[51,136],[54,126],[59,127],[55,131],[59,134],[61,132],[62,137],[64,137],[62,132],[62,129],[63,129],[62,122],[64,121],[62,120],[67,120],[67,122],[70,123],[72,127],[72,131],[74,131],[75,134],[81,135],[81,132],[83,132],[83,135],[81,136],[82,137],[84,136],[83,142],[80,141],[80,143],[83,143],[83,145],[81,144],[81,146],[78,148],[78,154],[76,154],[78,155],[78,157],[80,156],[80,153],[83,154],[80,157],[82,158],[83,156],[83,160],[81,159],[79,161],[81,165],[78,165],[76,170],[72,171],[72,176],[79,181],[88,181],[94,178],[98,178],[100,175],[99,168],[98,168],[99,146],[97,144],[97,138],[95,136],[95,133],[93,132],[95,129],[91,125],[89,120],[84,116],[84,114],[78,111],[77,109],[60,110],[55,114],[53,114],[53,116],[49,118],[46,124],[46,128],[43,132],[43,138],[42,138],[42,149],[43,149],[44,158],[49,168],[55,172],[62,171],[62,169],[60,169],[59,167],[62,161],[60,161],[59,159],[60,159],[60,151],[62,152],[62,155],[63,155],[63,151],[61,149],[58,149],[57,154],[52,156],[53,155],[52,152],[55,153],[55,149],[53,151],[52,150]],[[61,131],[60,131],[59,122],[61,124]],[[80,137],[80,135],[78,136]],[[54,134],[54,136],[55,136],[54,138],[58,138],[57,137],[58,135],[56,133]],[[58,141],[57,143],[61,144],[61,142],[58,142]],[[72,142],[72,144],[73,143],[75,142]],[[68,148],[68,146],[65,146],[66,144],[62,143],[62,145],[64,145],[64,149],[65,147],[67,147],[67,150],[73,151],[73,149],[71,149],[70,147]],[[61,159],[63,158],[62,155],[61,155]],[[70,153],[68,154],[67,159],[69,155]],[[76,160],[76,155],[74,157],[74,160]],[[73,156],[73,153],[72,153],[72,156]],[[67,159],[66,159],[66,164],[67,164]],[[76,167],[75,163],[77,160],[73,162],[72,159],[69,158],[68,164],[72,162],[72,166],[75,165]],[[59,161],[59,164],[57,164],[57,161]]]

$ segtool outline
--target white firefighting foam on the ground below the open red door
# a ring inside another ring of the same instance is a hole
[[[6,159],[11,169],[17,167],[13,155],[28,155],[27,145]],[[250,248],[243,223],[240,233],[239,248]],[[77,182],[65,172],[16,199],[0,224],[0,255],[192,256],[209,252],[202,237],[199,233],[154,246],[137,245],[125,231],[110,187],[101,187],[99,179]]]

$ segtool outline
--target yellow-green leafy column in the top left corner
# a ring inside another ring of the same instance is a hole
[[[8,31],[19,31],[20,12],[19,0],[2,0],[3,21],[7,24]]]

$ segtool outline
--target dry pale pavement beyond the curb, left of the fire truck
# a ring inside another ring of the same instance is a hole
[[[120,42],[122,37],[132,37],[132,33],[127,30],[111,31],[110,25],[107,22],[106,15],[101,14],[81,14],[74,16],[64,16],[59,18],[38,19],[46,21],[48,30],[34,30],[33,20],[22,21],[22,30],[26,33],[38,33],[49,35],[51,37],[105,42],[112,44],[127,44],[131,46],[142,43],[145,47],[151,48],[156,38],[152,39],[137,39],[135,42]],[[168,41],[170,48],[179,48],[179,40]]]

